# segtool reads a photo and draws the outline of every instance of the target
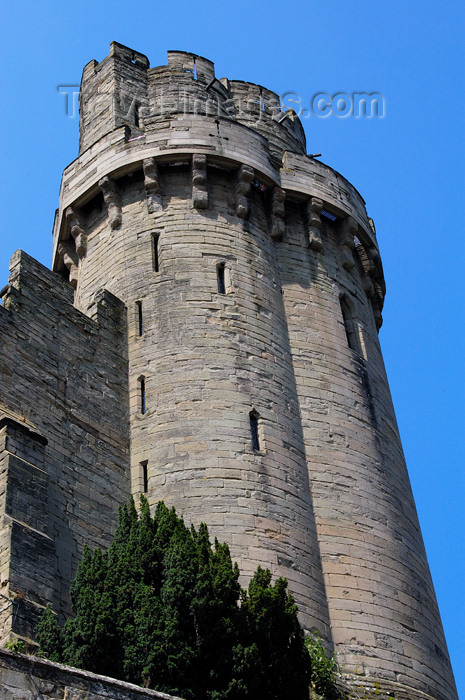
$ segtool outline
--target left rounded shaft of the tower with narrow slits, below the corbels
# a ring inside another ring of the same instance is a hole
[[[133,493],[144,490],[146,469],[150,503],[206,522],[231,546],[244,582],[259,564],[285,576],[306,626],[330,639],[267,206],[257,190],[250,221],[238,221],[236,177],[208,168],[208,211],[197,211],[191,164],[162,167],[153,215],[140,173],[120,180],[120,227],[109,230],[105,212],[89,206],[75,303],[86,311],[105,283],[128,308]]]

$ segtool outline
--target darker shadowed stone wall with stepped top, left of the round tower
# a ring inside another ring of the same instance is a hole
[[[108,546],[129,494],[125,307],[102,292],[88,318],[72,292],[13,256],[0,306],[4,635],[34,637],[48,602],[69,614],[82,547]]]

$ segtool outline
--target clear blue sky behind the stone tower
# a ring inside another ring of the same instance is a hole
[[[308,152],[343,173],[376,223],[387,280],[381,343],[459,688],[465,697],[463,3],[50,0],[2,10],[0,287],[22,248],[51,259],[78,119],[58,85],[80,82],[112,40],[166,63],[293,91],[380,92],[384,119],[303,119]],[[304,105],[304,106],[305,106]],[[462,195],[462,196],[461,196]]]

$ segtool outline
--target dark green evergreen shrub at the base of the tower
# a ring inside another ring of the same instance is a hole
[[[159,503],[120,509],[108,552],[84,550],[75,617],[45,611],[43,655],[187,699],[308,698],[311,661],[287,583],[258,568],[247,591],[229,548]]]

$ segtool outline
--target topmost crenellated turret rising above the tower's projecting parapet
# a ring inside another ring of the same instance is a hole
[[[160,129],[173,116],[198,114],[237,121],[263,134],[274,155],[283,149],[305,153],[305,135],[292,110],[260,85],[215,77],[212,61],[185,51],[168,51],[165,66],[150,68],[146,56],[112,42],[110,54],[91,61],[80,91],[80,153],[105,134],[126,127],[133,138]]]

